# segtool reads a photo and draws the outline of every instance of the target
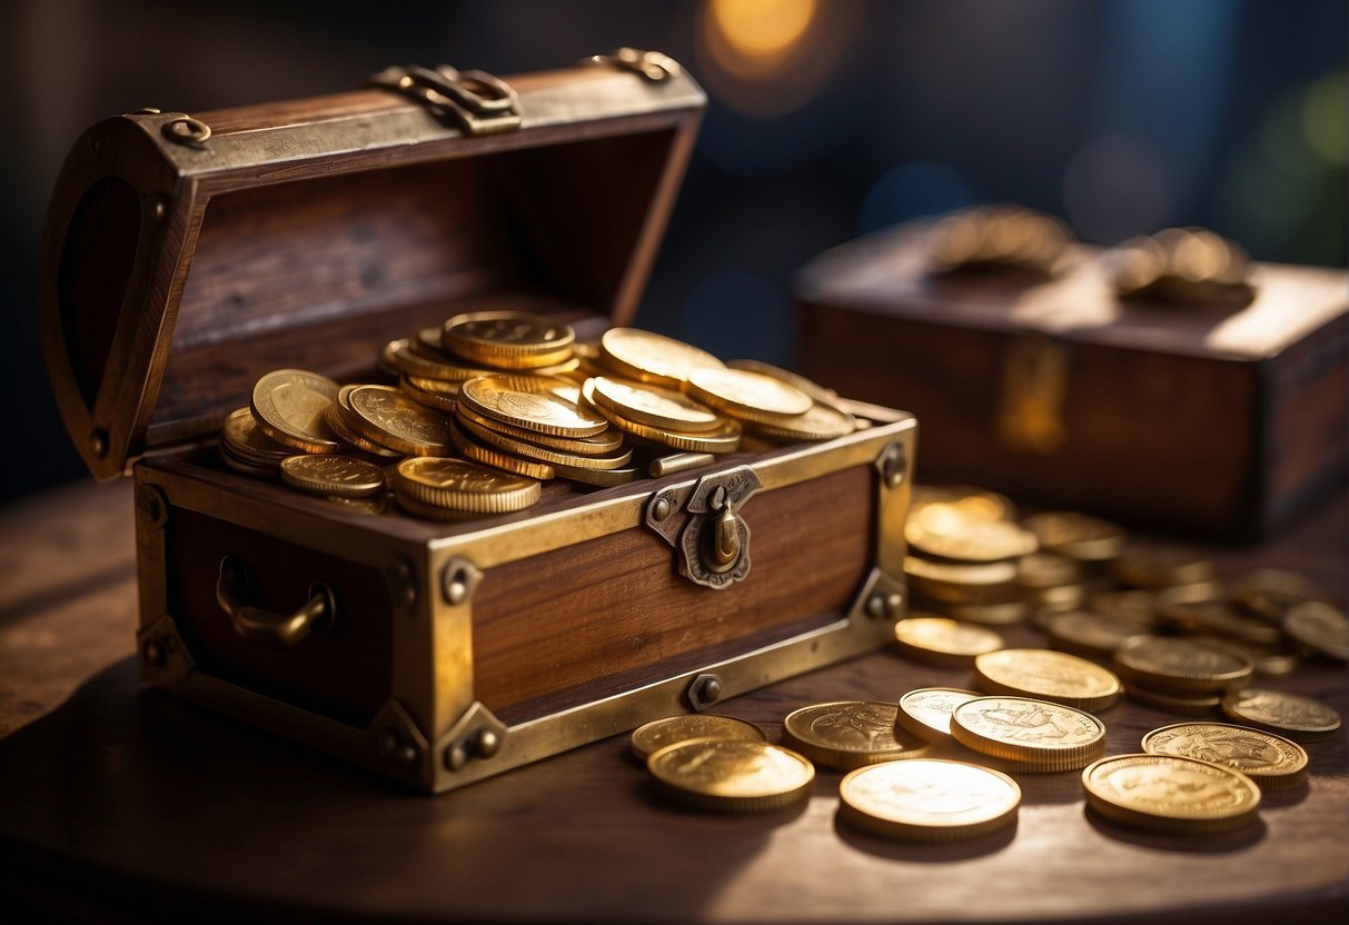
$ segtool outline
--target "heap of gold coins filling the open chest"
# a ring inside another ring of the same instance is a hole
[[[541,483],[619,485],[738,449],[832,440],[859,422],[838,396],[784,369],[727,365],[689,344],[519,311],[449,318],[384,347],[398,384],[339,386],[305,369],[256,382],[221,458],[240,472],[364,510],[389,492],[415,516],[521,511]]]

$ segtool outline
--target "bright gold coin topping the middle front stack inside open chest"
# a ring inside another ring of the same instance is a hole
[[[558,437],[590,437],[608,426],[576,403],[580,390],[556,376],[480,376],[464,383],[459,400],[478,414],[514,427]]]

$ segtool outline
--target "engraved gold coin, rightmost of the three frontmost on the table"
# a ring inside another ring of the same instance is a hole
[[[1207,835],[1255,818],[1260,787],[1240,771],[1179,755],[1112,755],[1082,771],[1087,805],[1106,818]]]

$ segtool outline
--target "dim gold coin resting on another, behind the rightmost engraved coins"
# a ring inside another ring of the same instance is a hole
[[[1114,667],[1126,681],[1180,696],[1240,688],[1255,670],[1249,657],[1217,639],[1155,635],[1120,646]]]

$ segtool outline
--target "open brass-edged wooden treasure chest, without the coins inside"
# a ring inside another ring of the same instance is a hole
[[[854,405],[834,440],[557,479],[459,522],[301,495],[212,448],[263,374],[366,379],[384,342],[456,313],[579,336],[631,320],[704,102],[622,50],[146,109],[78,139],[46,227],[45,352],[93,475],[135,479],[146,682],[444,792],[892,638],[905,413]]]

